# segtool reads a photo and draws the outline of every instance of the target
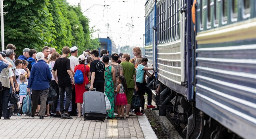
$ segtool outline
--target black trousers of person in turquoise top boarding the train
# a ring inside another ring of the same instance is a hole
[[[145,99],[144,99],[144,94],[147,93],[148,94],[148,105],[152,104],[152,91],[147,87],[146,82],[144,83],[139,83],[136,82],[137,87],[139,89],[138,94],[140,95],[140,100],[141,100],[141,105],[142,105],[142,109],[144,109],[144,105],[145,105]],[[134,109],[134,112],[139,112],[140,108],[138,109]]]

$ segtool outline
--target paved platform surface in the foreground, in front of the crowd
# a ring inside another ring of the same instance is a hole
[[[0,119],[1,139],[157,139],[146,115],[125,119],[12,116]]]

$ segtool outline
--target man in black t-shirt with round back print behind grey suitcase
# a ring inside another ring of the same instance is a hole
[[[90,90],[96,88],[96,91],[103,93],[105,87],[105,64],[98,59],[98,50],[92,50],[90,55],[93,60],[90,64],[90,72],[92,73]]]

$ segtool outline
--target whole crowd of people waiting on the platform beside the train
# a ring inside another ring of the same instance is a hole
[[[39,116],[40,119],[47,116],[81,117],[83,93],[94,89],[105,92],[110,101],[107,119],[145,114],[145,93],[147,108],[155,107],[151,104],[152,92],[146,84],[146,75],[154,75],[148,70],[153,68],[147,67],[148,59],[142,57],[139,47],[132,50],[134,58],[122,53],[109,56],[108,50],[88,49],[78,56],[76,46],[65,46],[60,55],[55,48],[45,46],[42,52],[25,48],[15,59],[15,50],[13,44],[8,44],[6,51],[0,52],[0,118],[10,119],[8,102],[11,93],[19,95],[19,105],[28,94],[32,98],[32,114],[25,116]],[[82,81],[74,78],[79,73],[82,73]],[[57,93],[53,101],[48,98],[50,87]],[[130,108],[134,93],[140,95],[142,107],[133,111]],[[21,116],[20,113],[12,114]]]

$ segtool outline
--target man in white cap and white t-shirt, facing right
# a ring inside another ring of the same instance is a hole
[[[75,66],[79,64],[78,58],[76,58],[78,56],[78,48],[76,46],[73,46],[72,48],[70,48],[70,54],[71,54],[71,56],[69,57],[70,68],[71,68],[71,72],[74,76],[75,75],[75,73],[74,73]],[[73,90],[72,90],[72,101],[71,101],[72,111],[70,112],[70,115],[71,116],[77,116],[75,85],[72,85],[72,88],[73,88]]]

